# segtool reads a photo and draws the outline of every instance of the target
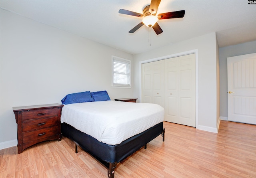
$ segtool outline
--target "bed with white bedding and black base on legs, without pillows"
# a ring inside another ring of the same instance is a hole
[[[96,98],[96,97],[95,97]],[[156,104],[94,98],[62,108],[61,132],[108,169],[114,178],[118,162],[164,132],[164,109]]]

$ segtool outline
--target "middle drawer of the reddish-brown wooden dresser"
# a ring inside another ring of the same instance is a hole
[[[22,122],[22,132],[58,125],[58,116]]]

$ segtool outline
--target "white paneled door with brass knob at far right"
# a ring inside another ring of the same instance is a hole
[[[256,124],[256,53],[228,57],[228,120]]]

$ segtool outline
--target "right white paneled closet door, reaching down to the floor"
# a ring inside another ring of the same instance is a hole
[[[164,60],[165,121],[196,127],[195,54]]]

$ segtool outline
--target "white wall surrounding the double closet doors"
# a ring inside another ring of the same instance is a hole
[[[198,49],[199,112],[196,128],[217,132],[217,46],[216,34],[211,33],[134,55],[134,97],[140,98],[139,61]]]

